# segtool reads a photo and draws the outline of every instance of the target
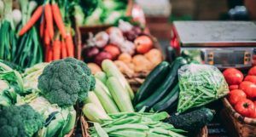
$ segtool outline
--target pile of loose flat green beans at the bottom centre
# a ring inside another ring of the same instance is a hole
[[[166,112],[113,113],[109,114],[109,119],[105,119],[102,124],[94,123],[94,127],[90,128],[90,135],[93,137],[184,137],[182,134],[185,134],[186,131],[174,128],[172,124],[161,122],[166,117],[168,117]]]

